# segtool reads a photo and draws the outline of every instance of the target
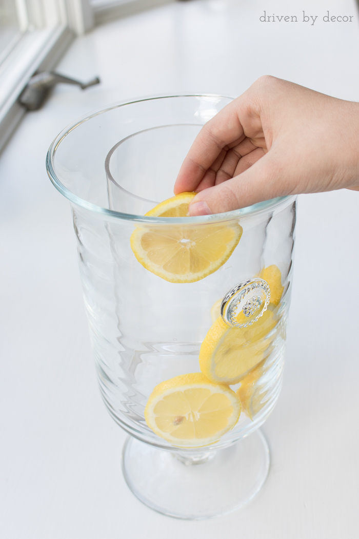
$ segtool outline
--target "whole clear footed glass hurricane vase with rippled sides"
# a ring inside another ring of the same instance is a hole
[[[124,476],[141,501],[184,519],[228,513],[262,487],[269,452],[258,427],[276,404],[283,372],[295,198],[212,216],[144,215],[173,196],[194,137],[229,102],[186,95],[114,105],[64,130],[47,155],[51,181],[71,202],[103,400],[131,435]],[[136,234],[205,234],[214,245],[228,230],[241,231],[228,257],[194,282],[171,281],[136,256]],[[220,357],[213,376],[242,412],[220,438],[196,447],[154,432],[144,411],[158,384],[201,369],[208,375],[200,350],[215,323],[241,335],[230,357],[245,367],[228,378]]]

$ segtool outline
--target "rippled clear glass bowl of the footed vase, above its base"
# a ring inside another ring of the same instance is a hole
[[[173,96],[111,107],[65,130],[47,157],[48,174],[71,201],[104,402],[132,436],[172,451],[175,448],[146,425],[149,396],[160,382],[200,371],[201,343],[219,315],[215,306],[238,283],[258,278],[270,266],[280,271],[283,294],[278,305],[269,305],[275,323],[263,335],[268,344],[251,397],[253,413],[242,412],[234,429],[214,447],[226,447],[264,422],[278,398],[283,374],[295,198],[216,216],[143,217],[173,195],[175,176],[194,136],[229,101]],[[217,271],[196,282],[162,279],[140,264],[131,248],[130,238],[138,227],[215,230],[219,223],[240,224],[241,240]]]

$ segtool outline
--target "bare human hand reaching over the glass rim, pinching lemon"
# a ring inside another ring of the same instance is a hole
[[[175,182],[190,215],[270,198],[359,190],[359,103],[261,77],[206,123]]]

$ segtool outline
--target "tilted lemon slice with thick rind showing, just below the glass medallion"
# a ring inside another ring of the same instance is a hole
[[[246,330],[228,326],[222,317],[210,327],[200,348],[200,369],[212,382],[237,384],[263,360],[271,340],[260,333],[250,340]]]

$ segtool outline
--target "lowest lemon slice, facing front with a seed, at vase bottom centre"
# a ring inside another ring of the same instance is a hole
[[[185,374],[154,388],[145,407],[147,425],[179,447],[202,447],[218,441],[237,423],[240,399],[226,385],[201,372]]]

